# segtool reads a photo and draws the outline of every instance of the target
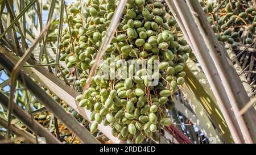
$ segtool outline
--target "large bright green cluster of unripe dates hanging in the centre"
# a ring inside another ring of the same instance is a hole
[[[118,3],[87,0],[82,9],[80,1],[68,6],[65,22],[69,26],[64,28],[58,47],[60,60],[68,68],[76,68],[79,75],[76,87],[84,87],[88,81]],[[183,69],[192,51],[187,41],[179,39],[172,30],[167,12],[167,5],[162,1],[127,1],[117,31],[102,57],[106,63],[101,63],[90,87],[76,98],[79,106],[92,112],[92,133],[102,123],[112,127],[112,135],[119,140],[144,143],[148,139],[158,141],[161,129],[171,125],[167,109],[174,107],[172,94],[185,82]],[[148,66],[156,63],[158,69],[148,74],[146,69],[122,65],[129,60],[144,61]],[[110,75],[118,70],[135,72],[127,78],[106,79],[99,74],[101,70],[110,70]],[[158,79],[157,85],[150,85],[154,79]]]

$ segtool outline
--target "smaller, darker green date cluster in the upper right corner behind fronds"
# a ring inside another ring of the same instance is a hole
[[[217,3],[205,5],[204,1],[200,0],[200,4],[206,10],[205,13],[209,13],[208,20],[219,41],[230,44],[233,49],[237,49],[239,43],[253,43],[256,27],[256,10],[253,1],[225,1],[220,8],[218,18],[217,13],[212,14],[214,8],[218,7]]]

